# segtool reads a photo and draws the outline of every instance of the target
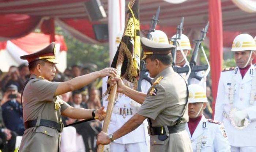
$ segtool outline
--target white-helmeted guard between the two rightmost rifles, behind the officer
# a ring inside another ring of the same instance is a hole
[[[176,38],[176,35],[173,35],[171,38],[170,44],[173,44],[173,39]],[[184,56],[181,54],[181,50],[184,52],[185,56],[187,57],[190,54],[190,51],[192,50],[189,39],[186,35],[182,34],[180,37],[180,40],[177,40],[178,46],[177,46],[177,53],[176,53],[176,66],[178,67],[185,67],[189,66],[185,62]],[[204,71],[199,71],[196,73],[198,76],[202,77],[204,75]],[[180,74],[183,78],[186,78],[186,73]],[[204,89],[206,89],[206,78],[202,78],[201,81],[197,80],[196,78],[191,79],[191,84],[199,84]]]

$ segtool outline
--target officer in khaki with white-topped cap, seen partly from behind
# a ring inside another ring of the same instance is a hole
[[[120,129],[113,134],[98,135],[98,144],[109,144],[137,128],[148,118],[151,152],[192,152],[191,142],[185,130],[188,122],[188,89],[185,80],[173,71],[170,44],[160,44],[146,38],[141,39],[143,59],[153,85],[147,94],[133,90],[123,84],[120,78],[112,79],[111,85],[118,83],[117,91],[142,104]]]

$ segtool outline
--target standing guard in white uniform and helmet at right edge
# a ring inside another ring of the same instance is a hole
[[[231,152],[256,151],[256,45],[249,34],[240,34],[231,51],[237,67],[224,69],[218,85],[215,120],[223,122]]]

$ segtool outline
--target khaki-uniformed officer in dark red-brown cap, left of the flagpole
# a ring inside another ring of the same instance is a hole
[[[105,76],[114,77],[116,70],[106,68],[66,82],[51,82],[56,73],[55,43],[33,54],[20,56],[29,62],[30,80],[22,91],[25,133],[19,152],[57,152],[60,132],[63,129],[61,115],[74,119],[99,116],[103,120],[104,107],[97,110],[72,108],[58,95],[80,89]]]

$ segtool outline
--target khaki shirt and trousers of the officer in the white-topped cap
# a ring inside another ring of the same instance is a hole
[[[159,81],[159,77],[162,79]],[[182,116],[187,102],[187,86],[185,80],[167,67],[153,79],[153,85],[138,110],[138,114],[151,119],[152,125],[173,126]],[[188,122],[188,107],[181,124]],[[158,135],[150,136],[151,152],[190,152],[192,151],[188,133],[183,130],[170,134],[164,141]]]

